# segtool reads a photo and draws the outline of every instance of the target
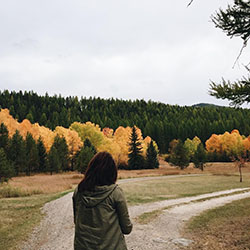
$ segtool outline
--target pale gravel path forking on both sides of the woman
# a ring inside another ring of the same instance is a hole
[[[131,181],[131,179],[128,179]],[[136,180],[134,180],[136,181]],[[124,182],[124,180],[120,181]],[[249,190],[249,191],[248,191]],[[237,191],[244,193],[234,194]],[[219,195],[228,196],[216,197]],[[188,239],[181,238],[180,231],[184,222],[202,211],[223,206],[234,200],[250,197],[250,188],[239,188],[221,192],[214,192],[194,197],[165,200],[155,203],[129,207],[129,213],[134,223],[133,231],[126,236],[129,250],[147,249],[179,249],[189,243]],[[206,201],[199,199],[210,198]],[[193,202],[192,201],[196,201]],[[186,204],[183,204],[186,203]],[[135,218],[145,212],[156,209],[163,213],[147,225],[135,223]],[[172,207],[174,206],[174,207]],[[20,247],[21,250],[73,250],[73,211],[72,193],[45,204],[42,209],[46,214],[39,227],[37,227],[29,240]]]

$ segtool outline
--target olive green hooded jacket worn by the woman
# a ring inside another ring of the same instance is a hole
[[[97,186],[73,195],[75,250],[125,250],[123,234],[132,223],[122,189],[117,184]]]

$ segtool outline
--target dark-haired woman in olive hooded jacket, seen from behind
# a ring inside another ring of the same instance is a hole
[[[127,249],[123,234],[131,232],[132,223],[116,180],[112,156],[97,153],[73,195],[75,250]]]

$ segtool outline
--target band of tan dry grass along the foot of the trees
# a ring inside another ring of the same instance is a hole
[[[203,172],[194,168],[192,164],[184,170],[170,166],[162,160],[160,164],[159,169],[119,170],[118,179],[180,174],[238,175],[238,169],[233,163],[209,163]],[[243,168],[243,182],[244,174],[247,173],[250,173],[250,167]],[[8,185],[0,186],[0,198],[62,192],[73,189],[82,178],[83,175],[77,172],[14,177],[9,181]]]

